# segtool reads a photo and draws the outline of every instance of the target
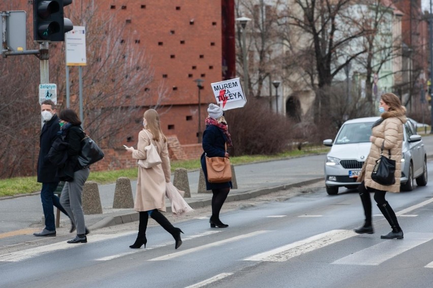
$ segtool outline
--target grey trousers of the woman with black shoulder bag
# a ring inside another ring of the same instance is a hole
[[[74,181],[66,182],[60,194],[60,204],[68,212],[71,221],[77,227],[77,235],[85,234],[83,205],[81,198],[83,194],[84,182],[89,176],[89,168],[84,168],[74,172]]]

